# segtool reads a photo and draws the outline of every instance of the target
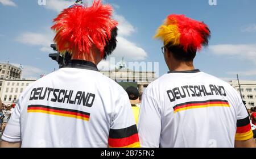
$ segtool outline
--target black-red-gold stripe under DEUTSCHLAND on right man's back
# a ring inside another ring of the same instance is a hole
[[[230,106],[229,106],[229,102],[224,100],[186,102],[186,103],[181,103],[174,106],[174,113],[188,110],[188,109],[193,109],[193,108],[205,108],[205,107],[230,107]]]

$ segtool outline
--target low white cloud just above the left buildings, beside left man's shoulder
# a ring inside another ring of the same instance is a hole
[[[13,64],[17,67],[20,66],[20,64]],[[41,74],[46,74],[46,71],[36,68],[34,66],[28,66],[28,65],[22,65],[22,78],[39,78]]]

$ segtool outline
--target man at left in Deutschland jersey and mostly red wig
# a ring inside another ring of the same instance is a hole
[[[112,7],[96,0],[53,20],[57,50],[72,60],[20,95],[2,147],[139,147],[127,93],[96,66],[116,47],[111,15]]]

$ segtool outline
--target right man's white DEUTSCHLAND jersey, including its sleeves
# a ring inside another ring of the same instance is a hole
[[[138,123],[141,147],[234,147],[253,136],[228,83],[200,70],[170,72],[148,85]]]

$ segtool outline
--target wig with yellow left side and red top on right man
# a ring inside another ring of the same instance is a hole
[[[179,46],[187,51],[200,51],[202,45],[208,45],[210,30],[208,26],[185,15],[171,14],[158,28],[156,38],[162,39],[164,45]]]

